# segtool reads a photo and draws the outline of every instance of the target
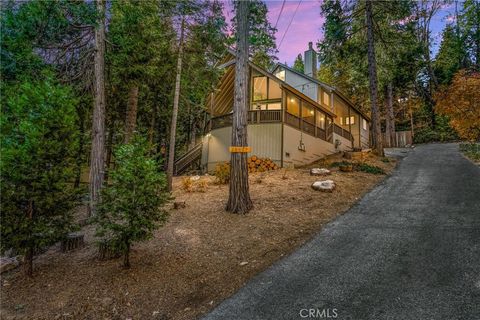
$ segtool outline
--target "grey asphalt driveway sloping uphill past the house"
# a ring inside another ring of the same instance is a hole
[[[205,319],[480,319],[480,168],[422,145]]]

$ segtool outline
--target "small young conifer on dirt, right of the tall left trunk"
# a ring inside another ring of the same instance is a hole
[[[94,217],[96,235],[102,238],[100,243],[124,255],[123,265],[128,268],[132,243],[150,239],[167,220],[163,209],[169,200],[166,177],[148,155],[145,141],[136,138],[116,150],[110,179]]]

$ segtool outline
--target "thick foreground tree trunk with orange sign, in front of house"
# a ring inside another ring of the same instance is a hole
[[[235,90],[233,101],[232,146],[247,146],[248,80],[248,7],[249,1],[237,6],[237,45],[235,56]],[[247,213],[253,207],[248,186],[247,153],[232,152],[230,158],[230,191],[226,210]]]

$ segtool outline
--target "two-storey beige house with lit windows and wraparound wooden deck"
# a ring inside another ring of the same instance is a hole
[[[249,63],[250,104],[248,145],[250,155],[270,158],[280,167],[312,163],[326,155],[353,147],[368,147],[369,118],[337,89],[316,80],[315,52],[305,52],[306,74],[278,64],[274,72]],[[197,146],[175,162],[176,174],[197,161],[211,172],[230,160],[235,78],[234,52],[220,67],[224,75],[205,108],[210,114],[208,133]]]

